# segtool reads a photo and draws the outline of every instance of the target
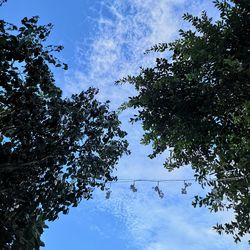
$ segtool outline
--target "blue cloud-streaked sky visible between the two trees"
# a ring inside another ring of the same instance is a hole
[[[69,64],[67,72],[55,71],[56,83],[64,95],[89,86],[100,89],[100,100],[111,100],[116,109],[134,93],[130,86],[115,86],[114,81],[135,74],[139,66],[152,65],[155,55],[144,51],[158,42],[168,42],[187,27],[184,12],[199,14],[206,9],[218,15],[208,0],[9,0],[0,8],[1,18],[17,23],[24,16],[39,15],[41,24],[52,22],[50,44],[65,47],[59,55]],[[130,156],[118,165],[119,178],[186,179],[189,167],[168,173],[163,169],[164,155],[150,160],[150,148],[140,145],[142,129],[128,123],[133,111],[120,118],[129,132]],[[204,191],[196,184],[187,195],[180,193],[183,183],[161,184],[165,197],[152,190],[154,183],[138,183],[131,193],[130,183],[112,184],[112,194],[105,200],[100,191],[94,199],[83,201],[67,216],[50,223],[43,235],[45,250],[209,250],[248,249],[245,241],[235,245],[228,236],[212,229],[216,222],[230,220],[232,214],[210,214],[191,205],[195,194]]]

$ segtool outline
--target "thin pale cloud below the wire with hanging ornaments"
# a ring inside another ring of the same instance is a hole
[[[162,185],[165,198],[152,189],[154,184],[137,184],[138,193],[129,184],[114,184],[111,198],[95,197],[98,210],[112,214],[124,223],[128,240],[140,250],[221,250],[246,249],[235,246],[230,237],[221,237],[212,229],[223,214],[211,216],[206,209],[191,207],[192,194],[180,194],[180,185]]]

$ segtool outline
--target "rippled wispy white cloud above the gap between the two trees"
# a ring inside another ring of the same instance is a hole
[[[170,41],[180,27],[181,13],[175,9],[184,0],[102,1],[91,17],[94,34],[77,46],[78,70],[67,82],[66,91],[95,85],[103,99],[119,105],[133,93],[130,86],[114,86],[114,81],[138,72],[140,66],[152,65],[154,55],[144,52],[155,43]]]

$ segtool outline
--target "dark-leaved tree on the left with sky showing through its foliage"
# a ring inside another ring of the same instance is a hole
[[[117,114],[96,89],[62,98],[49,68],[67,68],[53,55],[62,46],[45,47],[52,26],[37,22],[0,20],[1,249],[39,249],[44,221],[106,190],[128,153]]]

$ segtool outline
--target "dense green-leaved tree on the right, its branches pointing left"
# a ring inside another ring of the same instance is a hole
[[[215,229],[237,242],[250,232],[250,2],[214,3],[218,21],[205,11],[185,14],[193,29],[148,51],[168,51],[169,59],[157,58],[154,67],[118,83],[138,92],[124,108],[139,108],[132,121],[142,121],[150,157],[172,148],[168,170],[190,164],[202,187],[211,188],[193,205],[231,209],[234,221]]]

